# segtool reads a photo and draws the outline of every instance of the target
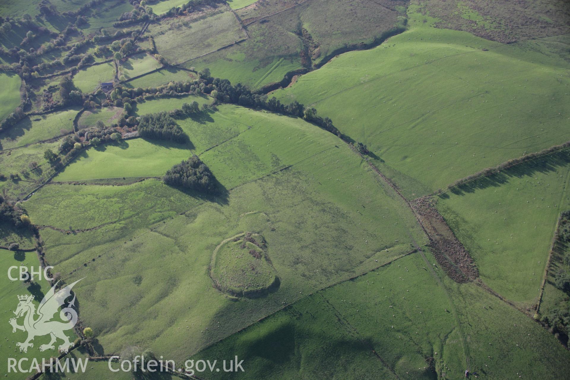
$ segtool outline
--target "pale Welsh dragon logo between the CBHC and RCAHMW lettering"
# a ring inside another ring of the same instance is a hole
[[[27,352],[28,347],[34,347],[31,341],[34,340],[35,337],[44,335],[50,335],[51,341],[48,344],[39,346],[40,351],[54,350],[54,343],[58,338],[63,340],[63,343],[58,347],[59,351],[67,353],[69,349],[74,346],[66,334],[64,334],[64,331],[72,329],[77,323],[77,312],[71,308],[75,305],[75,294],[73,299],[67,303],[67,307],[64,307],[59,312],[59,317],[67,322],[52,321],[52,318],[54,318],[54,314],[58,312],[59,308],[63,306],[65,300],[71,296],[71,289],[74,285],[81,280],[83,279],[77,280],[75,283],[67,285],[60,291],[55,292],[55,287],[59,283],[58,281],[58,283],[47,292],[46,296],[43,297],[38,310],[35,309],[35,305],[32,303],[34,296],[18,296],[20,302],[14,312],[16,317],[11,318],[9,323],[12,325],[13,333],[15,333],[16,330],[22,330],[28,333],[26,341],[16,344],[21,352]],[[22,326],[18,325],[16,321],[19,317],[24,317],[24,324]]]

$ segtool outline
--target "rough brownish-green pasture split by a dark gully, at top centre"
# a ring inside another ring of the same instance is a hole
[[[251,3],[251,2],[249,2]],[[246,2],[230,2],[233,8]],[[260,3],[259,6],[238,10],[250,36],[245,42],[222,51],[184,63],[198,70],[209,68],[212,75],[260,88],[281,81],[287,72],[329,59],[334,51],[347,49],[347,45],[372,43],[382,33],[394,28],[397,12],[378,7],[373,1],[327,2],[311,1],[290,10],[292,3]],[[272,15],[276,11],[282,13]],[[263,22],[251,22],[264,17]],[[363,22],[367,20],[367,22]],[[314,46],[306,50],[302,28],[311,36]]]

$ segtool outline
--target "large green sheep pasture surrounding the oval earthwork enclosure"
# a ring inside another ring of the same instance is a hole
[[[148,179],[125,186],[50,185],[25,203],[36,223],[77,231],[63,234],[46,227],[42,238],[50,262],[64,278],[88,274],[90,280],[78,289],[78,297],[86,323],[105,350],[136,344],[176,360],[187,358],[278,310],[284,299],[288,304],[406,254],[413,249],[408,233],[425,241],[400,198],[332,134],[299,119],[233,106],[222,106],[210,116],[214,121],[196,122],[204,136],[210,126],[219,128],[224,117],[228,130],[242,132],[202,154],[227,189],[216,197]],[[125,142],[135,141],[143,140]],[[124,165],[121,160],[129,151],[141,149],[111,149],[97,152],[101,157],[113,153],[108,160],[114,165],[99,165],[113,168],[109,177],[141,175],[133,173],[135,166],[152,174],[156,154],[153,160],[141,157]],[[86,179],[84,173],[92,169],[83,160],[71,164],[56,181]],[[162,165],[160,174],[172,163]],[[287,165],[293,166],[281,170]],[[78,176],[63,177],[68,173]],[[54,212],[71,209],[82,211]],[[264,236],[281,283],[266,297],[235,303],[213,288],[208,265],[223,239],[244,231]],[[163,263],[160,267],[153,264],[157,260]],[[122,294],[107,300],[105,295],[116,287]],[[108,312],[95,312],[103,304]],[[142,319],[133,321],[130,316],[135,314]],[[164,328],[164,318],[173,321],[169,328]],[[218,328],[209,328],[216,322]]]

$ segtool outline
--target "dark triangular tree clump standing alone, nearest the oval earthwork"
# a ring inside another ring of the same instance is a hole
[[[214,175],[210,169],[194,155],[166,171],[162,178],[166,185],[181,186],[187,189],[212,193],[215,189]]]

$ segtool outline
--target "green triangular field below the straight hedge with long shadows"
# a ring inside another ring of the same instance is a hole
[[[500,295],[536,303],[556,219],[570,207],[568,152],[518,165],[438,201],[438,210]]]

